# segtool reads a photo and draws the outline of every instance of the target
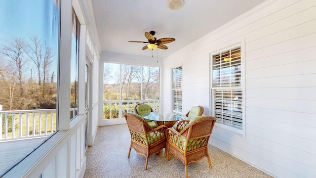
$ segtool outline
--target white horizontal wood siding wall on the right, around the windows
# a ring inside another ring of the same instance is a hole
[[[184,110],[211,114],[209,53],[239,39],[245,139],[214,129],[210,143],[274,177],[316,177],[316,0],[268,0],[164,59],[164,108],[170,68],[183,62]]]

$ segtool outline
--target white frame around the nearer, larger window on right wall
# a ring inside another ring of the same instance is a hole
[[[236,48],[240,46],[240,87],[213,87],[213,56],[226,51],[226,50],[230,50],[233,48]],[[235,43],[233,42],[231,44],[224,44],[224,45],[220,45],[219,47],[221,47],[220,49],[217,49],[213,52],[209,53],[209,81],[210,81],[210,115],[215,117],[215,89],[240,89],[242,91],[242,129],[237,129],[228,125],[224,125],[221,123],[216,122],[215,123],[215,127],[214,129],[222,132],[224,134],[229,134],[229,135],[233,135],[233,136],[237,136],[237,138],[243,138],[245,139],[245,123],[246,123],[246,119],[245,119],[245,45],[244,45],[244,39],[241,40],[236,40]]]

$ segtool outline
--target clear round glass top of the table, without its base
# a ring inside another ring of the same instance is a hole
[[[163,117],[163,115],[159,114],[159,112],[150,112],[143,114],[142,117],[151,121],[172,122],[183,120],[186,116],[182,116],[176,113],[168,113],[165,117]]]

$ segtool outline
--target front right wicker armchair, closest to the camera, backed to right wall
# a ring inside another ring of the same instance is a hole
[[[187,178],[188,164],[192,162],[207,157],[209,167],[212,167],[207,145],[215,121],[215,118],[211,116],[197,116],[180,133],[173,128],[166,130],[167,159],[169,160],[169,152],[171,152],[176,159],[180,160],[185,166]]]

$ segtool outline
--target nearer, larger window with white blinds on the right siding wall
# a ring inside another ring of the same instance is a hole
[[[213,111],[216,123],[242,130],[240,46],[212,55]]]

